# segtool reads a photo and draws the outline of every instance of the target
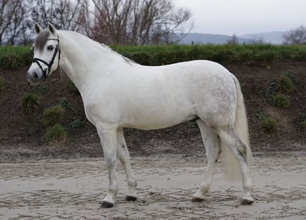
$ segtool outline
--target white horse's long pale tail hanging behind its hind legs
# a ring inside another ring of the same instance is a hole
[[[249,131],[248,131],[248,119],[245,111],[245,105],[243,102],[243,95],[241,93],[241,87],[239,85],[239,81],[236,77],[234,77],[234,83],[237,91],[237,110],[236,116],[234,120],[234,130],[236,131],[239,139],[243,144],[247,147],[247,163],[250,167],[252,161],[252,151],[250,149],[250,139],[249,139]],[[222,144],[222,165],[226,171],[226,177],[231,181],[241,179],[241,171],[240,166],[237,159],[230,151],[230,148],[227,146],[223,146]]]

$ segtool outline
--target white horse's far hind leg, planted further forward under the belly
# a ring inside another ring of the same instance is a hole
[[[201,183],[199,190],[193,195],[192,201],[203,201],[204,193],[208,192],[212,177],[214,176],[217,160],[221,153],[219,138],[215,131],[205,124],[202,120],[197,120],[201,131],[201,136],[206,148],[207,168],[204,175],[204,181]]]

